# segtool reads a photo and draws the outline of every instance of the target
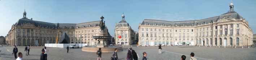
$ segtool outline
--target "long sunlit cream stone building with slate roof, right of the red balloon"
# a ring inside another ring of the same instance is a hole
[[[139,45],[250,46],[248,21],[233,10],[216,17],[188,21],[144,19],[139,24]]]

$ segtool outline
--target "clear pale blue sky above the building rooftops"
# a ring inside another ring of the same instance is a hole
[[[229,10],[231,0],[0,0],[0,36],[23,17],[50,23],[84,23],[104,16],[110,34],[115,23],[125,20],[134,31],[144,19],[167,21],[215,17]],[[234,10],[256,32],[256,0],[233,0]]]

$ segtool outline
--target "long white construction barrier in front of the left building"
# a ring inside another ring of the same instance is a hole
[[[71,45],[75,45],[75,46],[79,46],[84,47],[87,46],[87,44],[85,43],[45,43],[44,46],[46,47],[57,47],[57,48],[66,48],[67,46],[71,46]]]

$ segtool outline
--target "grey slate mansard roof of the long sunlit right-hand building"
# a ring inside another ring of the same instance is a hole
[[[234,18],[237,20],[243,19],[237,12],[230,11],[225,14],[221,14],[216,17],[205,18],[200,20],[186,20],[186,21],[166,21],[166,20],[156,20],[156,19],[144,19],[141,25],[155,25],[155,26],[197,26],[200,24],[208,24],[217,22],[222,18]]]

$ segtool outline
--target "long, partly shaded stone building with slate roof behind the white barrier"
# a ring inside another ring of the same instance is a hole
[[[94,46],[97,41],[92,37],[100,34],[99,24],[100,20],[78,24],[41,22],[28,19],[24,11],[23,18],[12,25],[6,41],[9,45],[43,46],[44,43],[56,43],[56,39],[60,40],[62,34],[66,33],[70,43],[87,43],[88,46]],[[108,35],[110,36],[109,33]]]

